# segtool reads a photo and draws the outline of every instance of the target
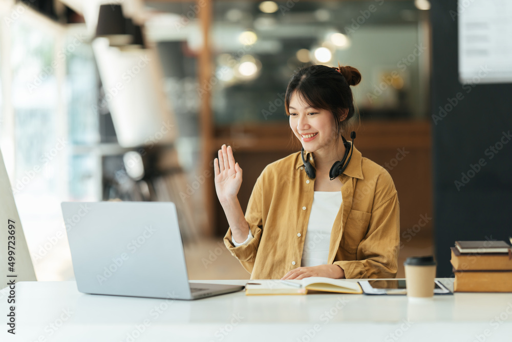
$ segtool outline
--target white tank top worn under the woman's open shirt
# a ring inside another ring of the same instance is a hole
[[[327,264],[332,225],[342,206],[342,200],[341,191],[314,192],[301,266]]]

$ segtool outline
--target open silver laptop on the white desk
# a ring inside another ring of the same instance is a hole
[[[63,202],[78,291],[198,299],[243,286],[189,283],[176,205]]]

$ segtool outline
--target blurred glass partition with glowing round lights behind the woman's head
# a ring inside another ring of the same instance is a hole
[[[284,122],[293,71],[338,63],[362,74],[362,119],[424,118],[427,19],[414,1],[215,2],[215,123]]]

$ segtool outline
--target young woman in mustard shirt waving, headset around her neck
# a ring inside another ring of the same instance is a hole
[[[348,66],[293,74],[285,109],[303,150],[263,170],[245,216],[237,198],[242,169],[229,146],[219,150],[215,187],[229,223],[224,243],[251,279],[396,276],[393,180],[343,137],[354,115],[350,86],[360,80]]]

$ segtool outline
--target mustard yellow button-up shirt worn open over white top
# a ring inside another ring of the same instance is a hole
[[[306,158],[314,165],[311,153]],[[400,210],[390,174],[354,148],[338,180],[343,202],[331,231],[328,264],[343,268],[346,278],[394,278]],[[224,236],[251,279],[279,279],[301,266],[313,189],[301,152],[269,164],[258,177],[245,213],[254,238],[234,247],[231,229]]]

